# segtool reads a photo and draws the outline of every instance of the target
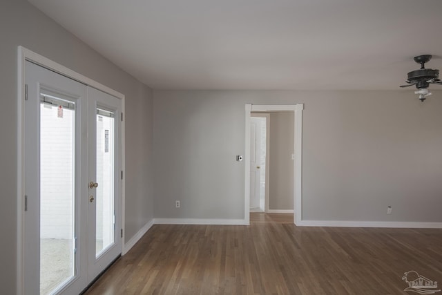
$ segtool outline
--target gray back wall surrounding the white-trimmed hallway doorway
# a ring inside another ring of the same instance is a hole
[[[155,217],[244,218],[244,104],[302,102],[305,220],[442,222],[434,88],[424,103],[412,90],[154,91]]]

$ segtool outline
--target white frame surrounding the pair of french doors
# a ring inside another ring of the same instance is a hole
[[[38,64],[48,70],[52,70],[55,73],[64,75],[70,79],[73,79],[87,86],[96,88],[99,91],[113,95],[122,100],[122,114],[124,113],[124,100],[125,96],[103,84],[100,84],[93,79],[90,79],[84,75],[81,75],[70,68],[66,68],[57,62],[52,61],[38,53],[35,53],[23,46],[17,48],[17,294],[23,294],[24,289],[24,261],[23,261],[23,239],[24,239],[24,100],[25,100],[25,61],[32,61],[34,64]],[[125,136],[124,136],[124,120],[121,121],[121,153],[122,162],[121,170],[125,171]],[[122,229],[124,229],[125,216],[124,216],[124,204],[125,204],[125,178],[122,179],[122,202],[119,204],[121,207],[121,220]],[[124,231],[122,236],[122,255],[124,254]]]

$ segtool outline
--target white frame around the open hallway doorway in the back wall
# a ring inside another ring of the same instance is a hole
[[[302,111],[304,104],[246,104],[245,105],[245,151],[244,151],[244,223],[250,224],[250,116],[251,112],[294,112],[294,224],[302,221]]]

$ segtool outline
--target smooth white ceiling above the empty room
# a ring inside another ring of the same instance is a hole
[[[421,54],[442,70],[441,0],[29,1],[154,89],[398,89]]]

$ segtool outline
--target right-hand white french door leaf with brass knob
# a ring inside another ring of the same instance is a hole
[[[120,99],[88,91],[88,278],[93,280],[121,253]]]

